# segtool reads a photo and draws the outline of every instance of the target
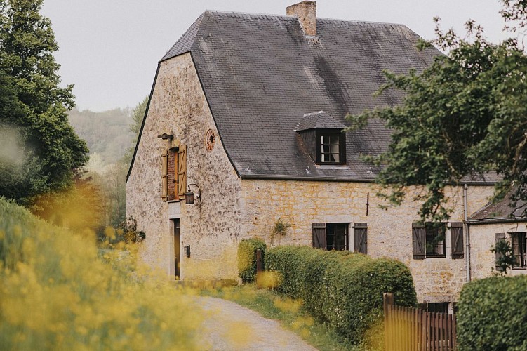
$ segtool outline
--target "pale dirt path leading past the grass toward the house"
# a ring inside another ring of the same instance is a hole
[[[210,316],[199,331],[206,350],[307,350],[316,351],[279,322],[220,298],[196,297]]]

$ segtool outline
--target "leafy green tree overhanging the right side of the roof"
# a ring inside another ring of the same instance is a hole
[[[502,3],[505,20],[515,29],[525,28],[527,1]],[[466,26],[467,37],[460,38],[452,30],[442,32],[438,24],[431,44],[448,55],[438,55],[423,72],[385,72],[380,93],[403,91],[401,105],[349,117],[351,130],[371,118],[393,130],[387,151],[366,159],[384,166],[378,182],[389,191],[380,195],[393,204],[401,204],[406,187],[425,185],[414,198],[423,201],[423,220],[448,218],[446,185],[489,172],[502,177],[495,199],[512,191],[513,206],[527,200],[526,53],[516,39],[491,44],[481,27],[472,21]]]

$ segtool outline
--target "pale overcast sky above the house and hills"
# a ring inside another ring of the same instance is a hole
[[[79,110],[133,107],[150,92],[158,60],[205,10],[285,15],[298,1],[272,0],[44,0],[62,65],[62,84],[74,84]],[[402,23],[425,39],[432,18],[463,32],[469,18],[491,41],[505,38],[498,0],[319,0],[323,18]]]

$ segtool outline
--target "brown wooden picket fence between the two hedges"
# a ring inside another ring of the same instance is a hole
[[[394,305],[384,294],[385,350],[456,350],[455,316]]]

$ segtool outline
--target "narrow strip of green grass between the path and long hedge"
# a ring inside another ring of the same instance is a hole
[[[233,301],[258,312],[262,317],[275,319],[321,351],[356,350],[354,345],[342,340],[328,326],[316,322],[299,301],[291,300],[271,290],[258,289],[255,284],[206,289],[202,294]]]

